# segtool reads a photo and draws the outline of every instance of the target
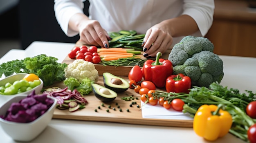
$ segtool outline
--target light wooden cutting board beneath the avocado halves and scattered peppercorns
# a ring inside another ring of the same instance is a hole
[[[128,77],[122,77],[128,80]],[[103,77],[99,76],[99,81],[97,84],[103,86]],[[58,86],[60,88],[65,88],[66,86],[63,82],[56,83],[54,86]],[[132,96],[135,98],[131,101],[124,101],[121,97]],[[138,99],[136,99],[138,97]],[[139,125],[159,125],[159,126],[174,126],[174,127],[193,127],[193,120],[172,120],[172,119],[148,119],[143,118],[141,114],[141,110],[137,108],[137,105],[141,107],[140,104],[140,95],[136,93],[133,89],[128,89],[126,92],[118,93],[117,98],[109,103],[104,103],[104,107],[101,106],[102,101],[97,99],[93,92],[89,95],[85,96],[88,104],[84,109],[69,112],[68,110],[59,110],[56,109],[54,111],[53,118],[54,119],[72,119],[72,120],[83,120],[83,121],[105,121],[105,122],[116,122],[116,123],[128,123],[128,124],[139,124]],[[136,102],[130,107],[132,102]],[[117,108],[116,103],[122,109],[122,112]],[[108,106],[111,108],[108,108]],[[101,109],[98,109],[98,106]],[[115,108],[116,110],[113,110]],[[94,110],[97,109],[97,112]],[[106,110],[109,110],[107,112]],[[126,110],[129,109],[129,112]]]

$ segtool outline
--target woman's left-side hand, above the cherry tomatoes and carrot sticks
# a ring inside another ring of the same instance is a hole
[[[80,40],[87,45],[101,46],[108,48],[108,36],[97,20],[85,20],[78,26]]]

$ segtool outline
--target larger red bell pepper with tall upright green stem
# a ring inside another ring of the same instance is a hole
[[[146,60],[142,68],[144,80],[153,82],[159,88],[163,88],[166,78],[173,74],[173,64],[168,59],[159,59],[161,55],[158,52],[155,61]]]

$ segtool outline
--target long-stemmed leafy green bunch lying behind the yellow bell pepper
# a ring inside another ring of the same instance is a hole
[[[173,99],[182,99],[185,102],[183,112],[194,117],[198,108],[204,104],[225,104],[226,110],[231,114],[233,124],[229,132],[238,138],[248,141],[247,130],[256,123],[256,119],[246,114],[246,107],[251,101],[256,101],[256,93],[245,90],[248,94],[240,93],[238,89],[223,87],[218,82],[213,82],[209,88],[193,86],[190,92],[174,93],[156,90],[153,97],[171,102]]]

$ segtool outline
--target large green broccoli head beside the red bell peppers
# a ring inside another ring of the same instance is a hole
[[[209,87],[222,80],[222,59],[213,53],[213,44],[205,37],[186,36],[175,44],[168,59],[173,64],[173,74],[189,76],[192,86]]]

